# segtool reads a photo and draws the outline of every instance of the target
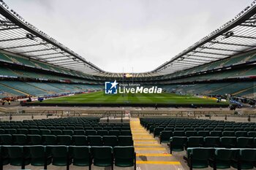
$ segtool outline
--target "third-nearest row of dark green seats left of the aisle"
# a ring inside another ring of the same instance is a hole
[[[49,130],[49,129],[25,129],[25,128],[20,128],[20,129],[15,129],[15,128],[10,128],[10,129],[0,129],[0,134],[53,134],[53,135],[126,135],[126,136],[131,136],[132,133],[130,130]]]

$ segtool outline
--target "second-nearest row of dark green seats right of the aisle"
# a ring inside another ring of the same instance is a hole
[[[238,147],[255,148],[256,138],[252,137],[217,137],[217,136],[173,136],[170,138],[170,152],[183,151],[187,147]]]

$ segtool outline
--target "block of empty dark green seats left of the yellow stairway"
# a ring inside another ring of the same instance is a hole
[[[87,134],[89,128],[95,129],[95,134]],[[108,136],[112,128],[120,129],[117,136]],[[97,129],[108,129],[105,130],[107,134],[101,136],[97,134],[100,131]],[[129,124],[99,124],[97,117],[69,117],[1,122],[0,131],[1,160],[4,160],[0,163],[1,169],[9,163],[21,169],[29,164],[44,166],[44,169],[50,163],[69,166],[71,161],[75,166],[91,166],[93,163],[94,166],[112,166],[112,169],[114,164],[130,167],[136,163],[133,141],[130,141],[132,136],[122,133],[130,131]],[[45,134],[45,131],[49,131],[49,134]],[[73,134],[75,131],[85,133]],[[45,157],[45,154],[49,155]]]

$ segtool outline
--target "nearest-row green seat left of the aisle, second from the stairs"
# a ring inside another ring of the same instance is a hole
[[[91,147],[94,166],[111,166],[113,170],[112,147]]]

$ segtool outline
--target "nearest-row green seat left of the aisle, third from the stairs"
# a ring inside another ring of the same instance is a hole
[[[86,146],[69,147],[69,155],[72,158],[74,166],[89,166],[91,169],[91,153],[90,148]]]

